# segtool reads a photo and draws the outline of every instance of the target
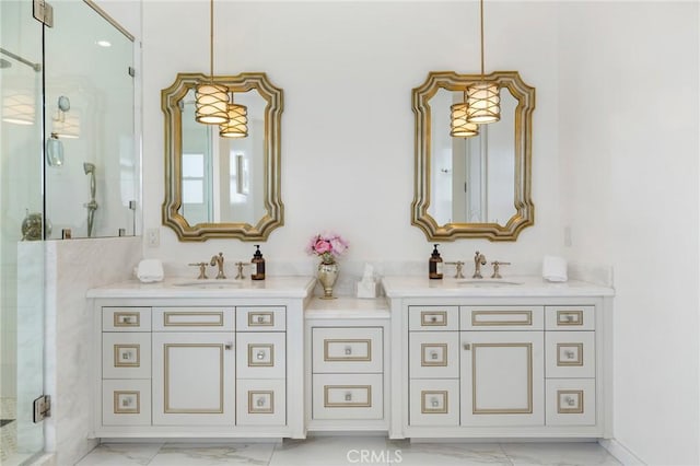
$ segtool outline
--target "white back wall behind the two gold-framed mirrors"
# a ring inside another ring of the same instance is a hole
[[[214,72],[266,71],[284,91],[285,224],[261,246],[269,265],[313,263],[304,246],[323,230],[350,241],[343,260],[427,263],[432,245],[410,225],[411,89],[431,70],[478,71],[478,4],[219,1],[214,8]],[[534,176],[556,179],[556,8],[494,3],[487,12],[487,67],[516,69],[537,88]],[[160,228],[164,196],[160,91],[177,72],[207,72],[208,14],[201,0],[143,2],[145,229]],[[480,249],[492,259],[539,259],[560,237],[557,189],[556,183],[535,184],[536,226],[517,243],[444,244],[443,257],[469,260]],[[183,244],[161,228],[161,247],[144,254],[184,264],[219,251],[233,263],[249,259],[255,248],[224,240]]]

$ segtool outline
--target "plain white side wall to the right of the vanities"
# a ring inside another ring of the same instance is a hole
[[[615,438],[699,464],[698,4],[560,11],[567,253],[615,268]]]

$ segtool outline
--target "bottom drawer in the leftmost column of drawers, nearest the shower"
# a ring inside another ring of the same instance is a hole
[[[102,423],[104,426],[150,426],[151,381],[103,381]]]

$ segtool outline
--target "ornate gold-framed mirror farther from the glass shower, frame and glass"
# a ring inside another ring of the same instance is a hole
[[[515,241],[535,222],[530,199],[532,113],[535,88],[516,71],[485,77],[497,82],[501,120],[479,126],[479,136],[450,136],[450,106],[463,102],[480,74],[432,71],[413,89],[416,186],[411,224],[430,241],[485,237]]]

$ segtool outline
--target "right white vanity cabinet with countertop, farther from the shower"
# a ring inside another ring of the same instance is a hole
[[[612,290],[387,277],[402,438],[608,438]]]

